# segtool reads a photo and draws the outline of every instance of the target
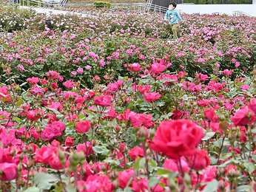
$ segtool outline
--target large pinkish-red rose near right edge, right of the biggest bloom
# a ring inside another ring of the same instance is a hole
[[[246,126],[255,120],[255,114],[248,107],[244,107],[235,112],[234,116],[231,117],[231,120],[235,126]]]

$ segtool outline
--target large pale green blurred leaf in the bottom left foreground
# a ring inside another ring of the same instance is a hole
[[[52,185],[59,181],[58,176],[54,174],[38,173],[34,177],[34,182],[38,188],[42,190],[49,190]]]

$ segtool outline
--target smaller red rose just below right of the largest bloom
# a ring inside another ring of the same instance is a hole
[[[210,165],[210,162],[207,152],[204,150],[197,149],[195,150],[195,154],[189,157],[189,167],[196,171],[206,168]]]

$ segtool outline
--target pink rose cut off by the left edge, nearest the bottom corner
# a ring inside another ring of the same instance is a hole
[[[17,165],[15,163],[0,163],[1,181],[10,181],[17,176]]]

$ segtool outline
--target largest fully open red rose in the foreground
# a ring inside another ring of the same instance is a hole
[[[159,126],[150,147],[169,158],[192,154],[203,138],[200,126],[189,120],[164,121]]]

